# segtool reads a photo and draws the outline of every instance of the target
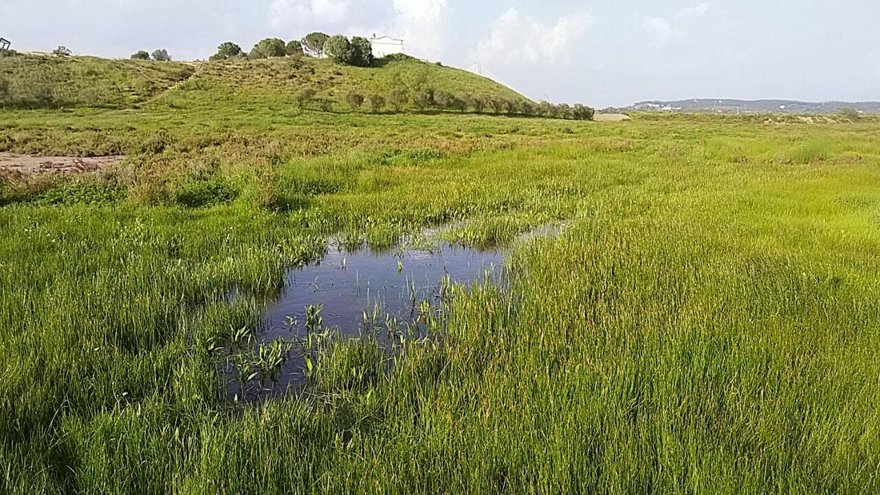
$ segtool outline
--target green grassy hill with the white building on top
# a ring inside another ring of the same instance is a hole
[[[23,55],[0,59],[0,78],[9,83],[0,101],[26,108],[292,105],[304,87],[314,90],[315,106],[329,109],[347,107],[344,97],[352,91],[386,96],[392,89],[414,92],[419,87],[525,100],[488,78],[414,59],[360,68],[310,57],[156,63]]]

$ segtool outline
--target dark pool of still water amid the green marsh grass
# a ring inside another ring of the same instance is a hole
[[[245,371],[246,366],[228,364],[229,397],[263,400],[302,389],[309,354],[302,343],[310,334],[326,340],[330,335],[369,334],[389,349],[401,336],[417,337],[424,330],[419,323],[420,311],[428,307],[433,312],[440,307],[444,289],[484,280],[496,282],[502,277],[501,265],[499,250],[476,250],[448,242],[387,252],[353,252],[331,245],[319,262],[290,270],[280,299],[263,313],[259,345],[285,344],[275,356],[280,356],[282,364],[268,373],[265,367],[258,370],[252,366]]]

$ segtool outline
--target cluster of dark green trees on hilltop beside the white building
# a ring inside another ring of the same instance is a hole
[[[280,58],[300,55],[316,57],[329,56],[336,62],[358,67],[369,67],[373,63],[373,47],[370,40],[355,36],[350,40],[341,35],[330,36],[326,33],[309,33],[302,40],[284,42],[280,38],[266,38],[253,45],[250,53],[245,53],[240,46],[226,41],[210,60],[231,60],[237,58]]]

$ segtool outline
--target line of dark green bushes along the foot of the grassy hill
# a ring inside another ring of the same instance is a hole
[[[326,100],[315,100],[316,92],[312,88],[304,88],[297,92],[296,102],[300,108],[309,107],[313,101],[319,103],[322,110],[328,111],[332,104]],[[393,89],[387,94],[372,92],[364,95],[361,92],[350,91],[345,93],[344,102],[352,110],[360,110],[364,104],[369,105],[373,112],[381,112],[385,108],[391,108],[400,112],[407,105],[415,107],[419,112],[428,109],[451,110],[466,112],[471,110],[482,114],[492,110],[495,114],[542,116],[554,119],[570,119],[577,121],[591,121],[595,115],[593,108],[581,104],[568,105],[560,103],[554,105],[548,101],[538,104],[529,100],[510,100],[506,98],[488,97],[458,93],[453,94],[443,90],[424,89],[416,92],[407,92],[403,89]]]

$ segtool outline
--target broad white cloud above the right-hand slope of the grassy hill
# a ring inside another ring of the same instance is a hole
[[[495,19],[488,37],[470,52],[473,61],[499,65],[564,65],[574,44],[592,26],[589,11],[576,11],[547,24],[520,15],[515,7]]]

